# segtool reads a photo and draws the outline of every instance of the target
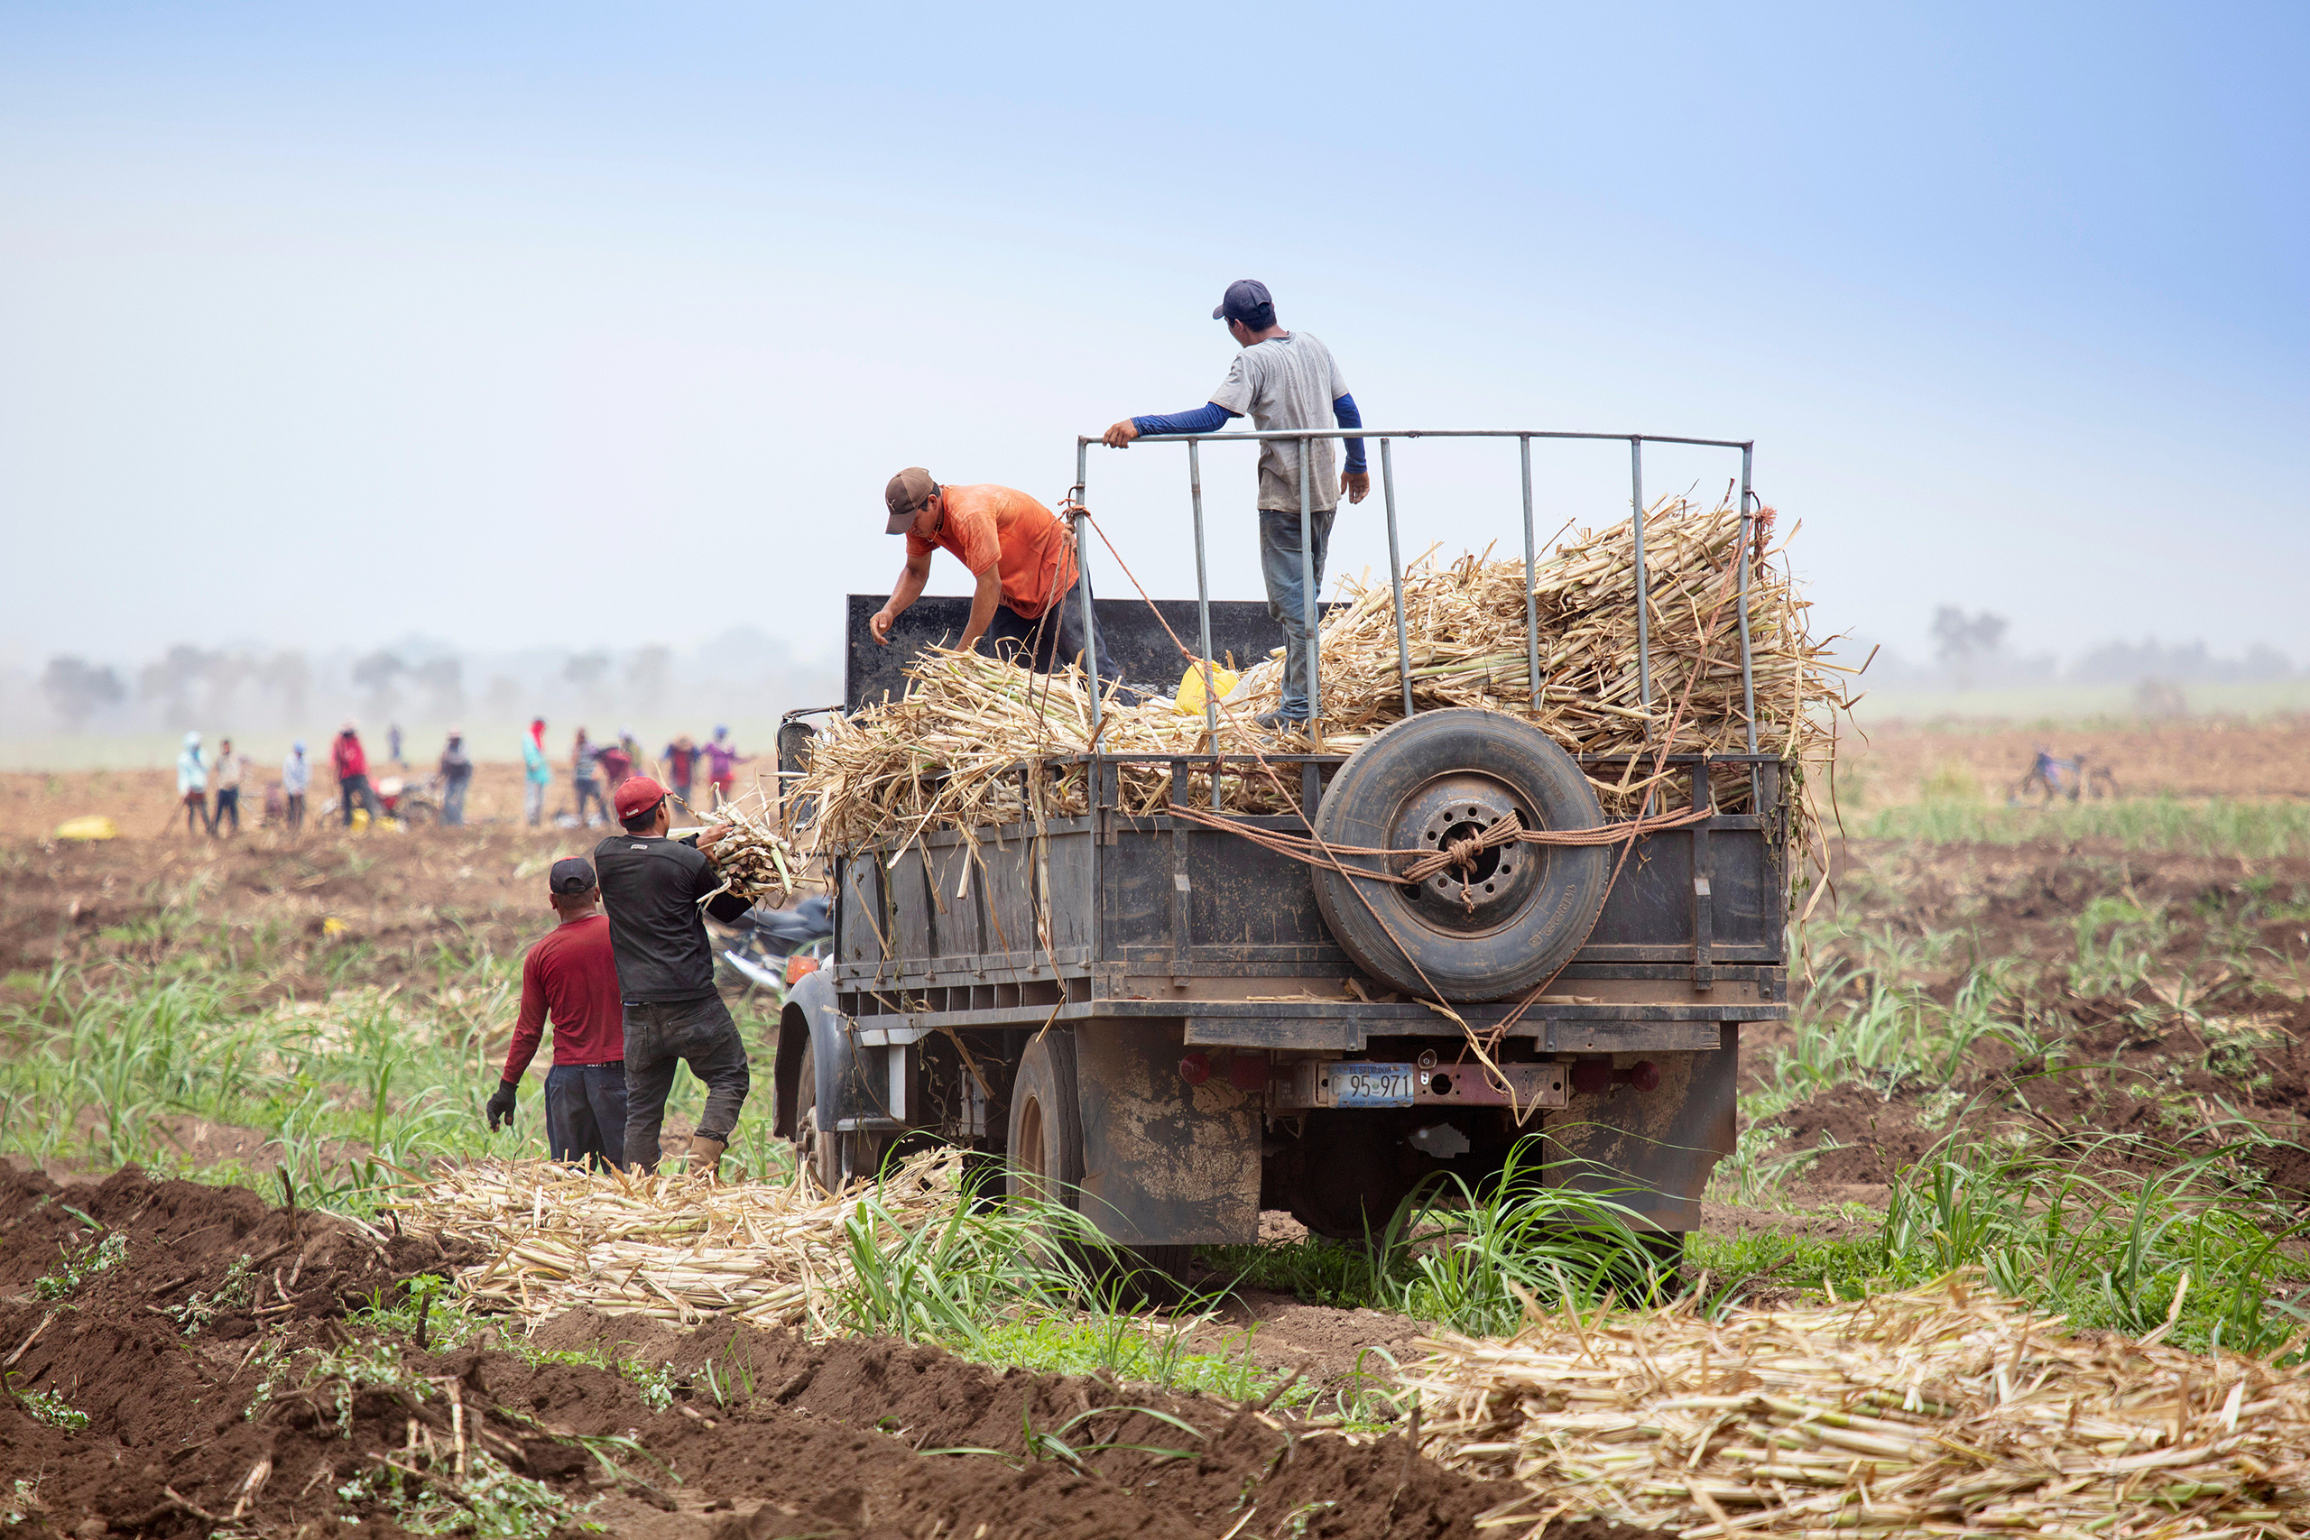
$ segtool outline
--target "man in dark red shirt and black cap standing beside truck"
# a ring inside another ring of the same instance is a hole
[[[545,1150],[557,1161],[596,1171],[626,1164],[626,1016],[619,1007],[617,958],[601,887],[584,857],[554,861],[545,894],[561,924],[522,958],[522,1014],[497,1094],[490,1129],[513,1122],[513,1092],[538,1053],[545,1021],[554,1025],[554,1067],[545,1071]]]

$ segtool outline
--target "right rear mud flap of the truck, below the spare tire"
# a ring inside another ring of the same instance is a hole
[[[1739,1023],[1723,1023],[1712,1051],[1615,1053],[1612,1067],[1638,1060],[1659,1064],[1656,1090],[1575,1092],[1541,1113],[1548,1184],[1605,1196],[1659,1231],[1698,1231],[1709,1171],[1737,1138]]]

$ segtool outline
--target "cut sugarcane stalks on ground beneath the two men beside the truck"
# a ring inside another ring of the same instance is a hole
[[[961,1154],[933,1150],[875,1191],[917,1219],[959,1196]],[[578,1304],[695,1323],[735,1316],[829,1330],[850,1281],[843,1221],[864,1189],[827,1198],[795,1182],[714,1184],[679,1171],[589,1173],[566,1161],[450,1166],[388,1201],[404,1226],[483,1247],[457,1286],[483,1309],[534,1325]]]

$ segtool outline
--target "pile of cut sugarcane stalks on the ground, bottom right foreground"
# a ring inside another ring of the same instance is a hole
[[[2176,1307],[2181,1300],[2176,1298]],[[2171,1323],[2169,1323],[2171,1325]],[[1857,1304],[1534,1318],[1444,1335],[1423,1448],[1532,1489],[1529,1535],[1608,1517],[1797,1533],[2310,1535],[2298,1369],[2070,1337],[1952,1274]]]

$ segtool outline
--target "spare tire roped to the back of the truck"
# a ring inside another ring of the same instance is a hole
[[[1545,732],[1499,711],[1421,711],[1349,755],[1314,815],[1342,847],[1437,852],[1508,813],[1525,829],[1599,829],[1587,776]],[[1543,984],[1587,940],[1610,870],[1608,845],[1495,845],[1418,887],[1314,868],[1333,940],[1407,995],[1506,1000]],[[1402,873],[1404,857],[1340,866]]]

